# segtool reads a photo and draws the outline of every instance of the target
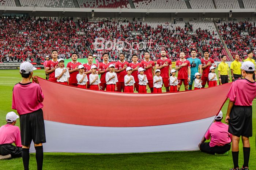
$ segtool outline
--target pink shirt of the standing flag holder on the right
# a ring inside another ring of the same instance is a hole
[[[252,101],[256,97],[256,82],[250,82],[247,79],[235,80],[227,97],[236,106],[252,106]]]

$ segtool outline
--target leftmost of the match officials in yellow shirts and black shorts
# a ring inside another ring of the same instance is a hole
[[[222,55],[221,60],[222,60],[222,62],[219,63],[219,65],[218,65],[219,84],[225,84],[230,81],[229,74],[228,74],[229,65],[227,63],[225,63],[225,61],[227,60],[227,56]]]

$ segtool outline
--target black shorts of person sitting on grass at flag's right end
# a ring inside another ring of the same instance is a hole
[[[206,152],[208,154],[224,154],[225,152],[230,150],[230,143],[225,144],[224,146],[215,146],[210,147],[210,142],[203,142],[200,144],[200,150],[202,152]]]

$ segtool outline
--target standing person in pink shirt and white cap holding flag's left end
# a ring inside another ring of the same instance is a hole
[[[37,80],[33,77],[36,68],[29,62],[20,64],[21,82],[15,84],[12,92],[12,109],[20,115],[20,136],[22,143],[22,160],[24,170],[29,169],[29,148],[34,141],[37,170],[43,166],[43,146],[45,139],[45,125],[42,104],[44,94]],[[31,78],[35,83],[31,83]]]

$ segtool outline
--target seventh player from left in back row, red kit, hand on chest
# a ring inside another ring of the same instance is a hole
[[[144,52],[144,60],[140,62],[144,71],[144,74],[147,76],[148,87],[150,88],[151,93],[154,92],[153,86],[153,77],[155,76],[155,62],[150,60],[150,53],[148,51]]]

